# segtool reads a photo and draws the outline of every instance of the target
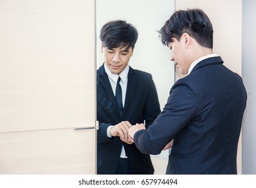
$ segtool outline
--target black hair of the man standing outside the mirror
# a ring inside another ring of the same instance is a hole
[[[212,23],[202,9],[175,11],[159,30],[159,38],[164,45],[168,45],[173,42],[172,38],[179,41],[184,33],[189,34],[201,46],[213,47]]]

